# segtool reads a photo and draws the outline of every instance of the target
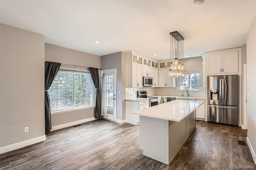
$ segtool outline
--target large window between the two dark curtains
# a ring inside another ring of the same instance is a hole
[[[48,93],[51,111],[94,106],[90,73],[58,71]]]

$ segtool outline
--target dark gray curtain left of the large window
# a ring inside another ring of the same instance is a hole
[[[52,81],[55,79],[56,74],[60,69],[61,63],[54,63],[45,61],[44,63],[44,121],[45,121],[45,133],[49,133],[52,129],[51,120],[51,108],[48,89],[52,85]]]

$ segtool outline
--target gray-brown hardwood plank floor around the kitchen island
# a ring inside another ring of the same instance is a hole
[[[0,155],[0,169],[9,170],[206,170],[253,165],[246,130],[196,121],[196,130],[170,165],[139,149],[139,126],[97,120],[47,134],[46,141]],[[247,144],[246,144],[247,145]]]

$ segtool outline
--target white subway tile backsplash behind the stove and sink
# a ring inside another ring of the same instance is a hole
[[[187,96],[186,91],[179,91],[178,87],[141,87],[141,88],[125,88],[125,98],[136,98],[137,91],[146,90],[148,96],[163,95],[163,96]],[[189,91],[190,97],[205,97],[205,88],[199,87],[199,91]]]

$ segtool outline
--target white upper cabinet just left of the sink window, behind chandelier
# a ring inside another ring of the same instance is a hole
[[[159,69],[158,86],[159,87],[175,87],[175,77],[169,77],[169,69]]]

